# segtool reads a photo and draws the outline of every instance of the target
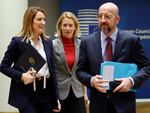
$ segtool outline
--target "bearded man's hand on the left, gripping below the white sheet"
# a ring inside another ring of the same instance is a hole
[[[95,75],[91,78],[91,84],[95,87],[99,92],[106,93],[106,89],[103,86],[103,83],[108,82],[108,80],[102,80],[102,76]]]

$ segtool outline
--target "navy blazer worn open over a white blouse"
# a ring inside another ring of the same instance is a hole
[[[29,85],[24,85],[23,82],[21,82],[21,75],[23,74],[23,70],[15,66],[12,67],[12,64],[15,64],[27,46],[26,41],[22,41],[22,39],[23,38],[20,37],[12,38],[0,65],[0,71],[11,78],[8,103],[19,109],[22,109],[26,105],[26,103],[29,101],[29,98],[32,98],[31,95],[34,96],[33,90],[31,90],[32,83]],[[51,99],[51,102],[53,102],[52,107],[57,107],[58,89],[53,66],[52,41],[42,38],[42,43],[50,71],[50,79],[47,81],[49,82],[49,86],[47,86],[49,93],[48,98]]]

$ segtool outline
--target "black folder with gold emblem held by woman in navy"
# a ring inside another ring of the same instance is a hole
[[[25,72],[32,67],[38,72],[45,63],[45,59],[38,53],[38,51],[32,45],[27,44],[26,50],[15,63],[15,67],[19,67]]]

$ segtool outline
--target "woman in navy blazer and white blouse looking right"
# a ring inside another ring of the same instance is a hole
[[[44,10],[40,7],[28,8],[24,14],[22,30],[19,36],[12,38],[0,65],[0,71],[11,78],[8,103],[18,108],[20,113],[60,111],[52,41],[46,37],[44,27]],[[46,61],[38,72],[24,71],[15,65],[29,44]]]

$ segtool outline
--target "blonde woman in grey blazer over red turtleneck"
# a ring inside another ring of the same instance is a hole
[[[80,48],[79,22],[72,12],[61,14],[56,25],[56,36],[53,48],[62,105],[60,113],[85,113],[86,88],[75,74]]]

